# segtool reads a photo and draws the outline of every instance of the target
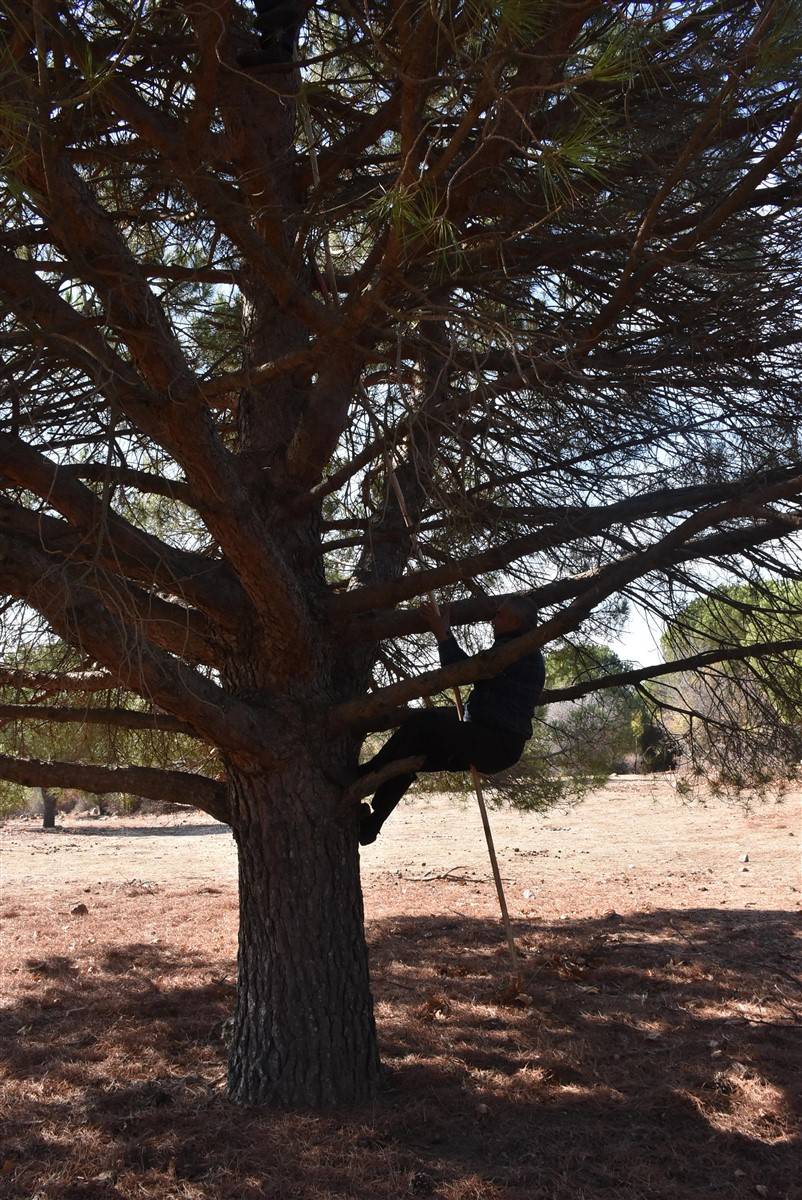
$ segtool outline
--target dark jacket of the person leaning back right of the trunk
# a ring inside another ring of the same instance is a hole
[[[517,634],[501,634],[493,649],[511,642]],[[469,658],[453,634],[438,643],[439,660],[444,667]],[[491,728],[532,737],[532,714],[546,682],[546,665],[540,650],[504,667],[492,679],[474,684],[466,704],[466,719]]]

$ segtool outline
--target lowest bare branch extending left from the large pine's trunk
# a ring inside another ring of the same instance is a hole
[[[104,794],[124,792],[151,800],[203,809],[216,821],[231,823],[228,790],[208,775],[157,767],[95,767],[83,762],[42,762],[0,755],[0,779],[23,787],[77,787]]]

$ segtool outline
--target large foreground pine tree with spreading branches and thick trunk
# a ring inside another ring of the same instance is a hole
[[[92,678],[215,749],[136,791],[234,830],[231,1094],[364,1099],[365,731],[711,562],[795,569],[800,8],[322,0],[247,70],[233,0],[2,13],[4,679],[23,726]],[[541,626],[420,670],[411,602],[471,625],[499,580]]]

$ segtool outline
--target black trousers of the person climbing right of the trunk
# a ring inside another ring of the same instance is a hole
[[[526,738],[520,733],[492,728],[473,721],[461,721],[456,708],[421,708],[408,716],[379,752],[364,763],[359,773],[378,770],[400,758],[424,756],[421,770],[467,770],[475,767],[483,775],[493,775],[517,762]],[[395,775],[378,788],[372,815],[363,814],[359,840],[375,841],[407,788],[418,776]]]

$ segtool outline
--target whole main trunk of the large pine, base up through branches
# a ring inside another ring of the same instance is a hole
[[[223,106],[229,137],[255,192],[268,197],[253,217],[255,228],[268,245],[288,252],[300,199],[285,169],[294,102],[251,86],[244,107],[233,90],[232,103]],[[269,179],[262,178],[267,162],[275,164]],[[299,289],[309,288],[307,275],[303,268],[298,272]],[[241,289],[246,367],[309,343],[309,330],[265,292],[258,272],[245,269]],[[341,356],[342,349],[333,361]],[[276,504],[287,506],[303,486],[299,475],[310,449],[303,446],[294,464],[288,448],[309,404],[309,379],[301,373],[245,389],[237,410],[243,462],[258,468],[257,503],[264,505],[277,554],[288,564],[304,607],[317,619],[300,647],[269,624],[253,626],[241,636],[247,653],[240,646],[226,670],[233,690],[265,704],[275,702],[281,680],[287,707],[281,736],[276,728],[271,738],[273,769],[227,762],[240,894],[228,1084],[240,1103],[322,1108],[369,1099],[378,1050],[355,815],[353,805],[342,804],[342,786],[331,781],[347,774],[355,743],[327,740],[303,715],[316,703],[323,712],[327,702],[345,695],[337,691],[337,677],[347,673],[353,686],[354,672],[339,671],[327,629],[319,510],[285,518],[280,529],[275,521]]]

